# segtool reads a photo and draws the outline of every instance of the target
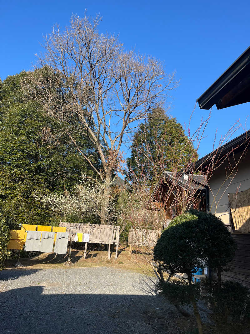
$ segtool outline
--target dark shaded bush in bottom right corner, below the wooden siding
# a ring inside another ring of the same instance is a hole
[[[241,283],[225,281],[218,289],[218,282],[212,282],[209,302],[212,318],[219,327],[227,323],[239,324],[250,318],[250,291]]]

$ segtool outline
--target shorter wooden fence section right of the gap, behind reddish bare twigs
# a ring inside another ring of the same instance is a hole
[[[145,246],[153,248],[161,235],[161,230],[131,227],[128,231],[128,244],[130,252],[132,246]]]

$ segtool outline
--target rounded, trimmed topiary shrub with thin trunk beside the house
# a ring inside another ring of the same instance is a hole
[[[189,286],[192,286],[192,274],[197,268],[209,266],[217,271],[220,287],[221,271],[227,269],[226,266],[233,259],[235,250],[236,244],[221,219],[211,213],[190,210],[173,219],[163,231],[154,248],[154,260],[170,275],[187,274]],[[178,286],[164,285],[164,282],[161,284],[158,288],[170,300],[178,300],[178,294],[179,300],[182,295],[190,297],[199,333],[202,333],[195,290],[184,284],[184,293]]]

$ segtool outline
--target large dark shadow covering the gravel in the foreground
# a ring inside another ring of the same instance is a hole
[[[51,294],[39,287],[0,294],[1,333],[181,333],[158,296]],[[177,328],[176,328],[177,329]]]

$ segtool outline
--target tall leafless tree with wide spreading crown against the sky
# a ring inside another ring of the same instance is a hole
[[[125,51],[117,36],[99,33],[100,20],[85,13],[84,18],[72,16],[65,30],[55,25],[45,36],[45,52],[38,56],[45,75],[31,72],[23,89],[61,123],[79,154],[109,184],[128,132],[166,101],[176,82],[174,73],[166,75],[157,59]],[[96,148],[101,170],[79,147],[79,135]],[[105,212],[104,206],[102,222]]]

